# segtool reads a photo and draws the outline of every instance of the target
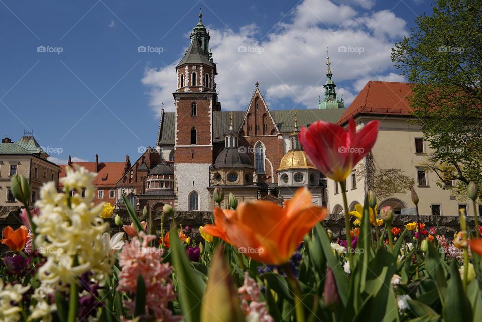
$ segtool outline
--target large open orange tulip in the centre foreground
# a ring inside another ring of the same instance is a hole
[[[306,233],[327,213],[311,204],[307,188],[300,188],[284,208],[269,201],[245,202],[236,211],[215,208],[215,225],[203,230],[254,260],[279,265],[289,261]]]

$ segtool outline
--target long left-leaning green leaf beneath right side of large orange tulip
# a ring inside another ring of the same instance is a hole
[[[348,303],[350,287],[348,277],[346,276],[346,273],[343,270],[340,262],[333,254],[333,250],[331,249],[331,242],[328,239],[328,235],[326,234],[325,229],[323,228],[323,226],[321,226],[320,223],[316,224],[313,235],[318,235],[320,238],[326,261],[328,262],[328,265],[331,267],[333,275],[335,276],[336,287],[338,288],[338,295],[340,296],[343,306],[346,306],[346,304]]]

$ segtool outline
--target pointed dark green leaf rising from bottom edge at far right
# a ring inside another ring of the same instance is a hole
[[[448,280],[442,313],[445,322],[467,322],[472,320],[472,307],[463,290],[462,280],[460,279],[455,260],[450,265],[450,279]]]

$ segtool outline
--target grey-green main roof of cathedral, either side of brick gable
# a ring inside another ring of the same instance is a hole
[[[308,126],[318,120],[336,123],[346,109],[302,109],[296,110],[298,127]],[[224,133],[229,130],[229,112],[214,111],[212,113],[214,142],[224,141]],[[280,132],[291,132],[295,126],[293,110],[270,110],[271,116]],[[239,129],[246,111],[233,111],[232,123],[234,129]],[[159,144],[174,144],[175,112],[164,112]]]

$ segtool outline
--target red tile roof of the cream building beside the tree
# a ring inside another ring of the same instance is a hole
[[[369,81],[346,109],[338,124],[344,125],[349,117],[360,114],[410,116],[407,99],[412,95],[409,83]]]

